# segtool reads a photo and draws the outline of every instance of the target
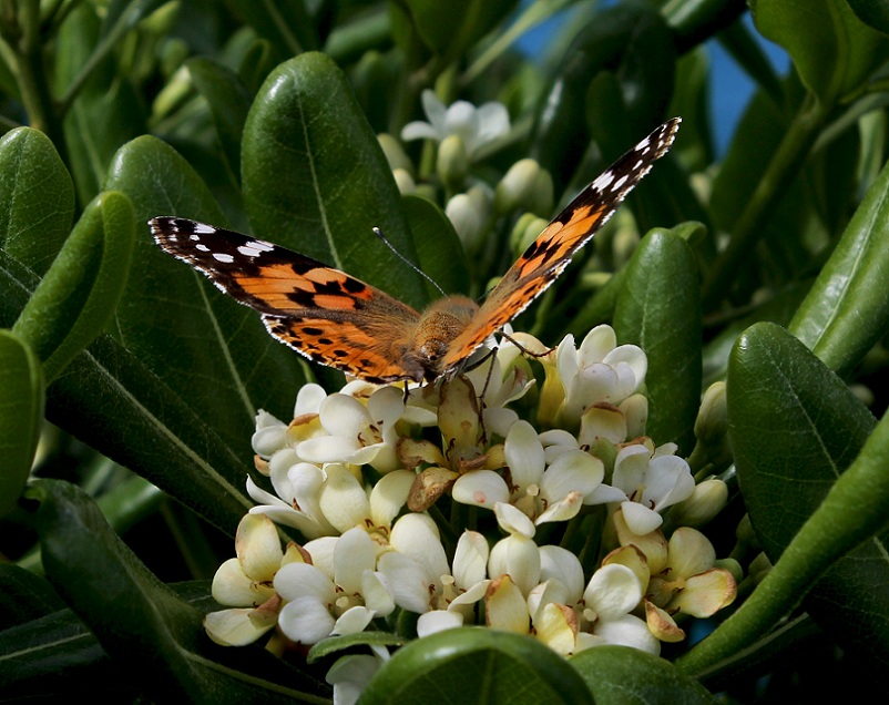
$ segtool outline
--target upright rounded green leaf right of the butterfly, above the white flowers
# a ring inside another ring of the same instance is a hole
[[[648,358],[646,432],[657,445],[691,451],[701,400],[701,293],[688,244],[663,229],[648,233],[630,260],[614,329]]]

